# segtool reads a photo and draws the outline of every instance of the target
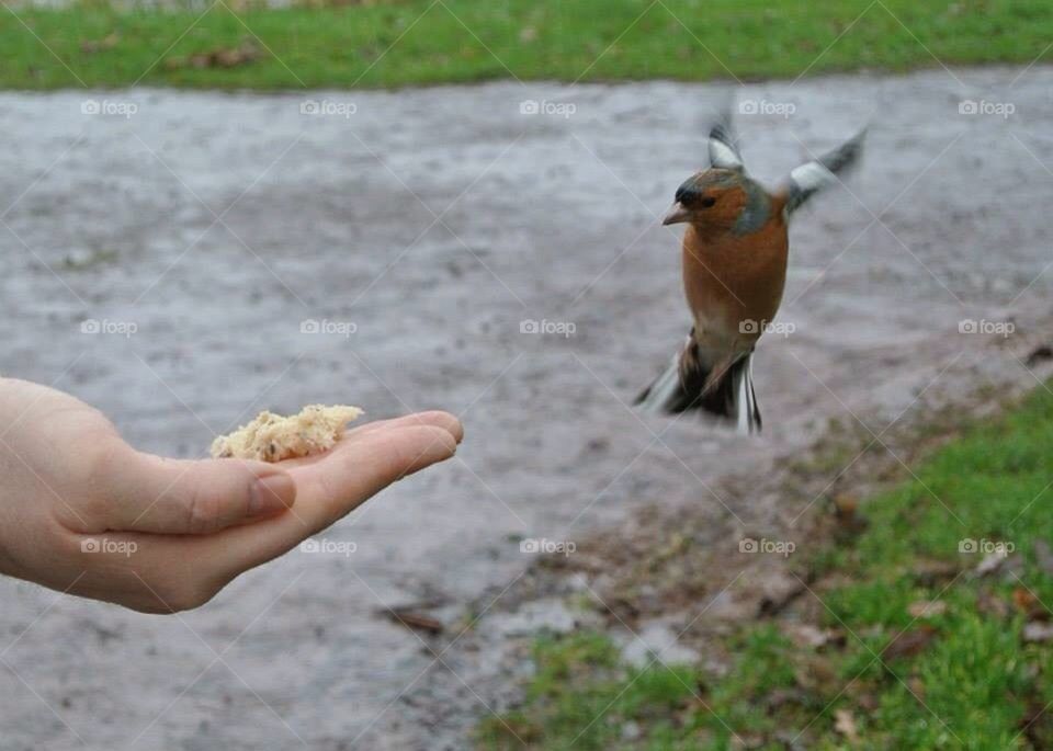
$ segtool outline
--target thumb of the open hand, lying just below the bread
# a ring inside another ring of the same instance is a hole
[[[296,498],[287,471],[262,462],[183,462],[136,453],[115,469],[110,528],[210,534],[284,511]]]

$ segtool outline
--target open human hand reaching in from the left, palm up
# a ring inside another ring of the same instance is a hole
[[[421,412],[279,464],[166,459],[67,394],[0,378],[0,572],[146,613],[197,607],[449,459],[462,435],[453,416]]]

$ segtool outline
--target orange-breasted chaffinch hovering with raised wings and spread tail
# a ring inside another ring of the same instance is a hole
[[[649,412],[701,410],[760,431],[752,383],[757,340],[782,301],[793,213],[857,164],[865,130],[801,164],[769,191],[747,172],[725,114],[710,130],[710,168],[677,189],[664,225],[687,224],[683,289],[693,327],[681,350],[636,399]]]

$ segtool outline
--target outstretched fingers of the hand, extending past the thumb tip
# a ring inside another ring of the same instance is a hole
[[[212,538],[230,578],[296,547],[392,482],[456,452],[456,440],[435,425],[388,428],[341,444],[324,462],[292,470],[298,493],[290,513]]]

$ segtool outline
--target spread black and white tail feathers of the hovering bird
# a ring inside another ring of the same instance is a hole
[[[646,412],[679,414],[700,410],[734,422],[740,433],[759,433],[761,421],[754,390],[752,353],[705,366],[689,338],[669,366],[636,399]]]

